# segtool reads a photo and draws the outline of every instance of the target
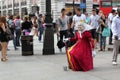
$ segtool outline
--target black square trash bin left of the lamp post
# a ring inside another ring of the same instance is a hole
[[[33,36],[21,36],[22,56],[33,55]]]

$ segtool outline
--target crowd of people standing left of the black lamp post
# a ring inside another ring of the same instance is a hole
[[[41,42],[42,34],[44,30],[44,16],[43,14],[37,14],[37,16],[24,16],[20,18],[19,15],[13,16],[10,15],[8,17],[1,16],[0,17],[0,45],[2,47],[1,53],[2,58],[1,61],[7,61],[7,51],[9,50],[8,44],[10,39],[8,39],[8,29],[13,35],[13,45],[14,50],[18,50],[21,45],[21,36],[22,35],[33,35],[37,36],[38,40]]]

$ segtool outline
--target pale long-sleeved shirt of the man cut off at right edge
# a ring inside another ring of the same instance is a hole
[[[115,36],[118,36],[118,39],[120,40],[120,17],[116,16],[113,18],[111,30],[113,32],[113,39]]]

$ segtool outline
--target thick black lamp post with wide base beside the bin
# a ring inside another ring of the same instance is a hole
[[[43,55],[55,54],[54,52],[54,31],[51,18],[51,0],[46,0],[46,29],[43,42]]]

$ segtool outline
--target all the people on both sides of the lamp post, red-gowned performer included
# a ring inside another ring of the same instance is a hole
[[[61,16],[56,20],[56,24],[56,33],[60,37],[59,41],[64,42],[65,39],[67,40],[66,54],[70,69],[74,71],[92,70],[94,68],[92,52],[95,51],[98,43],[100,45],[99,51],[106,50],[106,37],[109,37],[109,45],[113,45],[112,64],[117,64],[120,46],[120,9],[117,12],[112,10],[106,17],[101,10],[97,13],[96,9],[93,9],[92,14],[88,15],[87,12],[81,13],[80,8],[75,9],[75,15],[71,12],[66,15],[66,10],[63,8],[61,9]],[[41,42],[45,28],[44,16],[35,14],[32,17],[24,16],[23,19],[19,15],[0,17],[1,61],[8,60],[9,40],[6,37],[7,28],[10,29],[11,34],[14,36],[12,39],[14,49],[18,50],[21,35],[32,34],[38,36],[38,40]],[[59,47],[60,52],[62,52],[62,47]]]

